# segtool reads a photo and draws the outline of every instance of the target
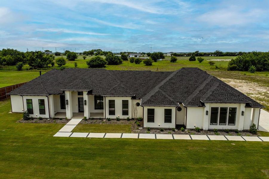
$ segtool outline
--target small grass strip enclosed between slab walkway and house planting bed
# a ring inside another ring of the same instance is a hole
[[[130,124],[78,124],[72,132],[131,133]]]

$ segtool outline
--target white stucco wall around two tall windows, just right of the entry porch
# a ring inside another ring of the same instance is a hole
[[[115,115],[109,115],[108,100],[115,100]],[[122,115],[122,100],[128,100],[128,115]],[[106,118],[116,118],[119,116],[120,119],[126,119],[127,117],[132,117],[132,101],[131,97],[119,97],[119,96],[106,96],[105,97],[105,117]]]

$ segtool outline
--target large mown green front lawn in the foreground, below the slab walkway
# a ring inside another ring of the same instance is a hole
[[[9,111],[1,101],[0,178],[268,178],[269,142],[60,138],[64,124]]]

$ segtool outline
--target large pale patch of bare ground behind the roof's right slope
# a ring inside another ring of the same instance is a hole
[[[266,107],[267,111],[269,110],[269,87],[247,80],[231,78],[219,79],[234,87],[236,90],[254,99],[255,101],[261,103]]]

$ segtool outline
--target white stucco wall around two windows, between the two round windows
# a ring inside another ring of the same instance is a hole
[[[154,123],[147,122],[147,109],[154,110]],[[172,123],[165,123],[165,109],[172,109]],[[169,106],[144,106],[144,127],[175,128],[176,107]]]

